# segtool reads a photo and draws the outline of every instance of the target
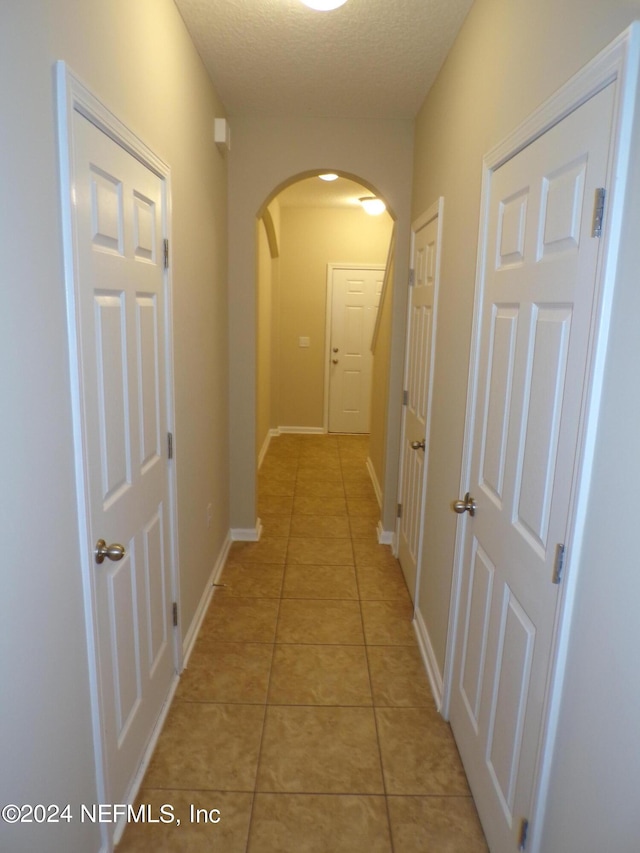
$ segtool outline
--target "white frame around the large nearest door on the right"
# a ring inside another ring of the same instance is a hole
[[[546,793],[551,772],[555,736],[557,732],[562,684],[571,629],[571,617],[579,576],[582,539],[586,524],[589,485],[593,466],[594,448],[605,355],[611,316],[613,288],[616,278],[620,247],[624,196],[629,168],[631,132],[638,84],[640,56],[640,24],[632,24],[609,47],[578,72],[545,104],[537,109],[507,139],[493,148],[484,158],[482,194],[480,204],[480,233],[476,264],[476,290],[473,313],[473,332],[467,390],[467,415],[464,433],[462,472],[459,494],[468,488],[471,479],[471,450],[474,431],[473,413],[478,387],[478,354],[480,343],[481,307],[484,292],[487,221],[493,172],[518,154],[527,145],[558,124],[569,113],[597,94],[605,86],[616,86],[610,161],[607,172],[607,199],[602,244],[600,246],[594,301],[593,325],[589,358],[586,370],[588,389],[583,400],[577,464],[572,484],[567,537],[567,561],[559,590],[556,611],[552,664],[545,697],[544,724],[538,748],[534,782],[534,795],[530,819],[528,849],[540,853],[542,827],[546,808]],[[454,572],[451,588],[449,628],[445,659],[443,705],[441,713],[449,716],[449,706],[454,678],[455,638],[460,608],[460,591],[463,573],[466,514],[460,516],[456,531]]]

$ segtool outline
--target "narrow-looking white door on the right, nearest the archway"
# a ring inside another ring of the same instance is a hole
[[[438,270],[437,214],[414,235],[409,292],[404,387],[406,405],[402,432],[398,559],[411,599],[415,602],[427,479],[428,414],[431,400],[433,320]]]

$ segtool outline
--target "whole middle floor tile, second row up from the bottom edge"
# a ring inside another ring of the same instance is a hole
[[[269,705],[256,790],[382,793],[373,711]]]

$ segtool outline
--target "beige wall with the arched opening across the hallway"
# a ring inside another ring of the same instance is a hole
[[[390,387],[402,383],[404,310],[409,251],[413,123],[374,119],[236,116],[229,158],[229,323],[231,361],[232,526],[256,523],[256,248],[255,221],[263,205],[293,177],[335,171],[388,203],[398,222]],[[402,261],[400,261],[402,259]],[[399,444],[400,412],[390,418],[388,447]],[[385,508],[391,519],[397,470],[387,466]],[[388,507],[387,507],[388,501]],[[390,521],[390,525],[392,522]]]

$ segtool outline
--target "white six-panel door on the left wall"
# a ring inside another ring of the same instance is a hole
[[[174,674],[163,181],[74,113],[84,454],[108,795],[125,802]]]

